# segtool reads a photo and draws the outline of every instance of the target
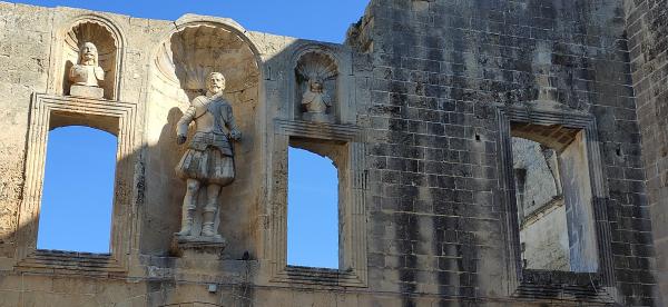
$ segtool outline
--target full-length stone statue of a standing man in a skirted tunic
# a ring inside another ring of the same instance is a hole
[[[207,78],[206,96],[199,96],[177,123],[177,142],[186,142],[190,122],[195,121],[195,135],[188,149],[176,167],[176,174],[187,181],[183,202],[181,229],[178,237],[206,237],[222,239],[214,229],[218,211],[220,187],[232,184],[235,177],[232,140],[239,140],[232,115],[232,105],[223,98],[225,77],[212,72]],[[202,214],[202,232],[194,232],[194,215],[197,209],[197,195],[206,186],[206,204]],[[205,239],[206,239],[205,238]]]

